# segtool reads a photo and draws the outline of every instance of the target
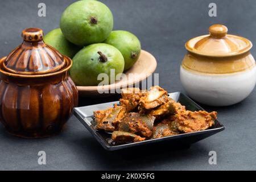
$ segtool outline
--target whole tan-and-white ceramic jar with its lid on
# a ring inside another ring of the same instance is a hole
[[[189,40],[180,67],[180,80],[190,97],[205,105],[227,106],[245,99],[254,89],[256,68],[249,40],[226,35],[213,25],[210,35]]]

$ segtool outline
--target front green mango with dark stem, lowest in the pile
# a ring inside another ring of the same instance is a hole
[[[75,57],[69,71],[72,80],[78,86],[98,85],[100,73],[110,78],[110,69],[114,69],[114,77],[123,72],[125,61],[122,53],[109,44],[97,43],[82,48]],[[108,79],[108,84],[110,80]]]

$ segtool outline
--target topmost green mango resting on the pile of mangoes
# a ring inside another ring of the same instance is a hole
[[[100,43],[113,29],[113,15],[99,1],[77,1],[61,15],[60,28],[65,38],[78,46]]]

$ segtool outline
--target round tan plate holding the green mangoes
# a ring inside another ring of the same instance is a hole
[[[129,86],[137,84],[138,82],[144,80],[150,76],[156,69],[156,59],[151,53],[142,50],[141,55],[137,62],[125,72],[126,78],[115,82],[110,85],[102,86],[77,86],[79,90],[79,96],[90,96],[90,97],[108,97],[114,94],[114,90],[122,88],[124,86]],[[136,75],[129,75],[129,73],[137,73]],[[101,90],[99,93],[98,89]]]

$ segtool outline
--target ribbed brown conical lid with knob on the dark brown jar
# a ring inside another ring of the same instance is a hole
[[[40,28],[22,31],[23,43],[14,49],[3,62],[7,72],[20,75],[42,75],[57,72],[65,67],[64,57],[43,42]]]

